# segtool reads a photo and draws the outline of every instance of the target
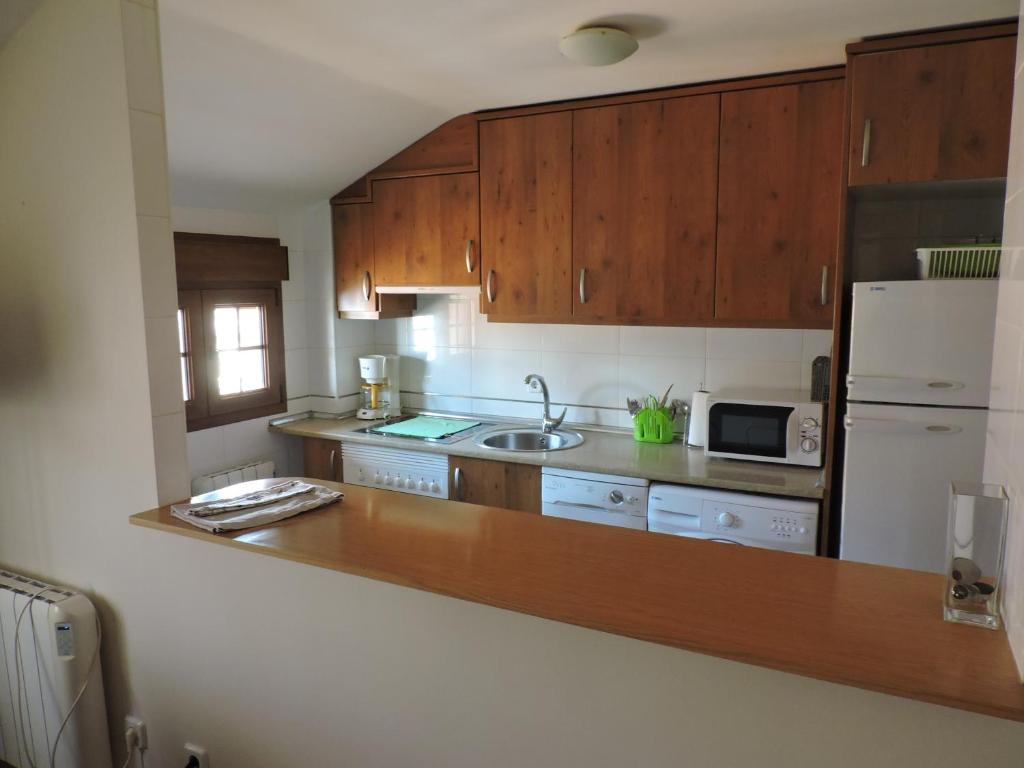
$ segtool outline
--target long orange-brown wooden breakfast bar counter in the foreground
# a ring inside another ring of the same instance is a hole
[[[132,524],[745,664],[1024,721],[1004,632],[942,621],[935,573],[324,483],[345,500],[208,534]]]

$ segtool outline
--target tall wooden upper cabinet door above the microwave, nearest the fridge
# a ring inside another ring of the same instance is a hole
[[[843,81],[722,95],[715,317],[830,328]]]

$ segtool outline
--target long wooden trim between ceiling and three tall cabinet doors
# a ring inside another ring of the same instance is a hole
[[[499,120],[501,118],[524,117],[548,112],[566,112],[569,110],[586,110],[592,106],[613,106],[616,104],[634,103],[637,101],[653,101],[664,98],[696,96],[702,93],[726,93],[728,91],[750,90],[752,88],[770,88],[776,85],[794,83],[810,83],[818,80],[842,80],[846,77],[845,66],[822,67],[813,70],[785,72],[780,74],[759,75],[755,77],[718,80],[693,85],[674,85],[665,88],[652,88],[645,91],[615,93],[607,96],[592,96],[573,98],[562,101],[547,101],[523,106],[499,108],[476,113],[478,121]]]

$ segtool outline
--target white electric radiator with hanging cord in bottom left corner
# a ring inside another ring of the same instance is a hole
[[[110,768],[99,642],[85,595],[0,570],[4,762],[49,768],[53,754],[55,768]]]

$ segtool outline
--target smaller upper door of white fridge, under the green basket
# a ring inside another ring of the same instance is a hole
[[[849,398],[988,407],[998,281],[855,283]]]

